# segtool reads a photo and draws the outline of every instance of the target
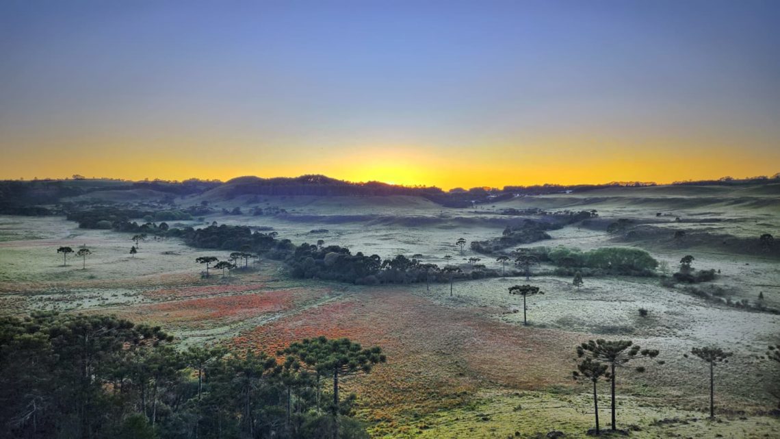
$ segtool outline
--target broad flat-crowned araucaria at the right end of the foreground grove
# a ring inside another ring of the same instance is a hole
[[[333,377],[333,437],[339,437],[336,422],[339,416],[339,379],[371,373],[374,365],[387,361],[378,346],[363,349],[359,343],[354,343],[349,338],[307,338],[290,344],[282,353],[293,355],[302,366],[314,369],[322,376]]]

